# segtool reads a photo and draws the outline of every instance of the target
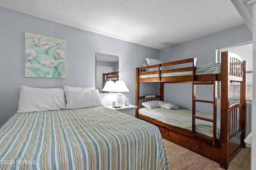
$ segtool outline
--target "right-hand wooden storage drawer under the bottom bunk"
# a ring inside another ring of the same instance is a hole
[[[220,162],[220,150],[219,147],[206,144],[197,139],[181,135],[181,146],[192,150],[198,154],[205,156],[215,162]]]

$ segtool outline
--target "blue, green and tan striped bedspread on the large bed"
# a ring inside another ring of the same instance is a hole
[[[170,169],[158,127],[104,106],[14,114],[0,160],[1,170]]]

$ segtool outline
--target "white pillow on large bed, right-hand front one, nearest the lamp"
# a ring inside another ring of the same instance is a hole
[[[97,90],[64,89],[66,94],[66,109],[102,106]]]

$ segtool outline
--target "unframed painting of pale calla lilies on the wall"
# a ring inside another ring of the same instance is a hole
[[[25,77],[66,78],[66,40],[25,32]]]

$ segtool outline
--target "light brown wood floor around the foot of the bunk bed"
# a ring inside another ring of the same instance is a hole
[[[164,139],[172,170],[224,170],[220,164]],[[246,147],[229,163],[228,170],[250,170],[251,149]]]

